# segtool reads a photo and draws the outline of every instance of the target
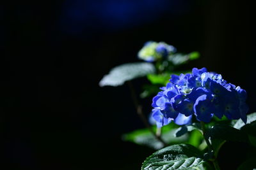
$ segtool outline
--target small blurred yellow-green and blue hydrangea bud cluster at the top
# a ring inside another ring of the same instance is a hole
[[[148,41],[138,52],[138,58],[147,62],[154,62],[159,59],[168,57],[176,52],[176,48],[164,42]]]

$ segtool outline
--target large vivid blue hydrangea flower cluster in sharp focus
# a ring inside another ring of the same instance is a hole
[[[210,122],[213,115],[224,115],[232,120],[241,118],[246,123],[246,91],[223,80],[221,74],[193,68],[192,74],[172,75],[170,83],[161,87],[153,98],[152,117],[157,127],[174,121],[178,125],[198,121]]]

